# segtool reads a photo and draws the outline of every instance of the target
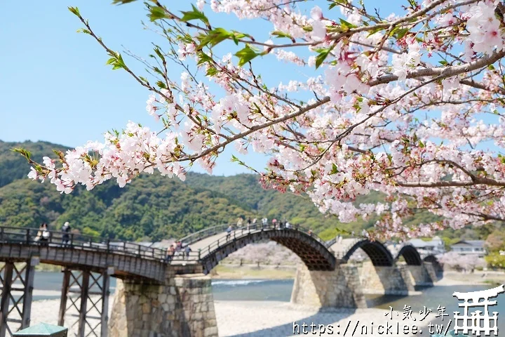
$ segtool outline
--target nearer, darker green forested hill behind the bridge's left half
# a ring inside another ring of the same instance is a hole
[[[88,192],[60,194],[53,185],[28,179],[0,187],[0,223],[58,228],[65,221],[86,234],[117,239],[180,237],[253,213],[220,193],[161,176],[140,176],[124,188],[114,181]]]

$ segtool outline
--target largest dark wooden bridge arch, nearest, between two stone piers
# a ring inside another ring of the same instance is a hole
[[[335,270],[335,255],[326,248],[321,239],[303,230],[267,227],[254,231],[242,230],[235,233],[233,238],[222,240],[224,242],[221,244],[217,242],[201,249],[199,260],[203,266],[203,273],[208,274],[221,260],[234,251],[265,239],[270,239],[290,249],[299,256],[309,270]]]

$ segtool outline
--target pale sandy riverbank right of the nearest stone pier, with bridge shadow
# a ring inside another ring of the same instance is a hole
[[[379,324],[389,323],[396,326],[400,324],[400,333],[393,333],[393,336],[418,336],[412,333],[403,333],[404,325],[417,325],[418,329],[424,329],[425,334],[428,330],[426,324],[428,322],[419,322],[422,318],[417,312],[412,313],[412,318],[415,317],[416,322],[403,321],[403,315],[394,317],[390,320],[384,315],[389,310],[384,309],[356,309],[356,310],[319,310],[318,308],[303,307],[300,305],[292,305],[286,302],[275,301],[215,301],[215,312],[217,319],[217,329],[220,336],[240,336],[240,337],[278,337],[278,336],[293,336],[298,335],[297,331],[293,331],[293,323],[297,324],[299,334],[303,333],[302,324],[307,324],[309,336],[336,336],[344,334],[347,324],[349,324],[348,335],[356,328],[353,336],[382,336],[377,334],[377,326]],[[371,331],[372,322],[374,331]],[[316,324],[314,335],[310,331],[310,324]],[[324,326],[319,329],[319,324]],[[332,325],[333,332],[330,333],[328,325]],[[365,326],[365,328],[363,328]],[[296,328],[295,328],[296,329]],[[366,329],[366,330],[365,330]],[[316,332],[317,331],[317,332]],[[384,331],[382,331],[384,333]],[[391,334],[390,334],[391,336]]]

